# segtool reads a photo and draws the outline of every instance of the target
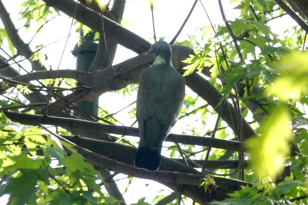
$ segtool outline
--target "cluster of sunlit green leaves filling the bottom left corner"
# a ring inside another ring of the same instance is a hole
[[[0,118],[0,195],[9,194],[10,204],[118,203],[101,192],[102,177],[70,144]]]

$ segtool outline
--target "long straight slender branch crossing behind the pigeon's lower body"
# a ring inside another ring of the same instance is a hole
[[[43,115],[30,115],[18,112],[3,111],[8,118],[21,124],[48,124],[61,127],[79,128],[85,130],[95,130],[97,132],[111,133],[118,135],[128,135],[139,137],[139,131],[137,128],[127,126],[117,126],[111,124],[100,124],[97,122],[91,122],[86,120],[77,120],[63,117],[51,117]],[[244,143],[215,139],[210,137],[198,137],[189,135],[170,134],[167,138],[168,142],[177,142],[181,144],[192,144],[205,147],[213,147],[220,149],[228,149],[233,151],[245,152]]]

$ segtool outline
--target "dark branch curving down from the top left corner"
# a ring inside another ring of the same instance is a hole
[[[14,23],[12,22],[9,13],[4,7],[2,1],[0,0],[0,18],[4,25],[7,35],[10,38],[10,41],[17,49],[18,53],[24,57],[30,56],[33,51],[30,49],[30,46],[26,44],[18,34],[18,30],[15,28]],[[32,65],[32,69],[39,70],[47,70],[45,66],[42,66],[38,60],[29,61]]]

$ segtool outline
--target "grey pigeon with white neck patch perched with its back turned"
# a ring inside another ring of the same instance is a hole
[[[153,54],[153,64],[140,73],[136,118],[140,141],[135,167],[156,171],[164,140],[179,118],[184,104],[185,79],[171,62],[172,50],[166,41],[157,41],[145,55]]]

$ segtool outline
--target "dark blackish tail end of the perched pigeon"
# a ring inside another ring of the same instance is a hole
[[[160,166],[161,148],[162,146],[152,151],[148,147],[138,147],[135,156],[135,167],[156,171]]]

